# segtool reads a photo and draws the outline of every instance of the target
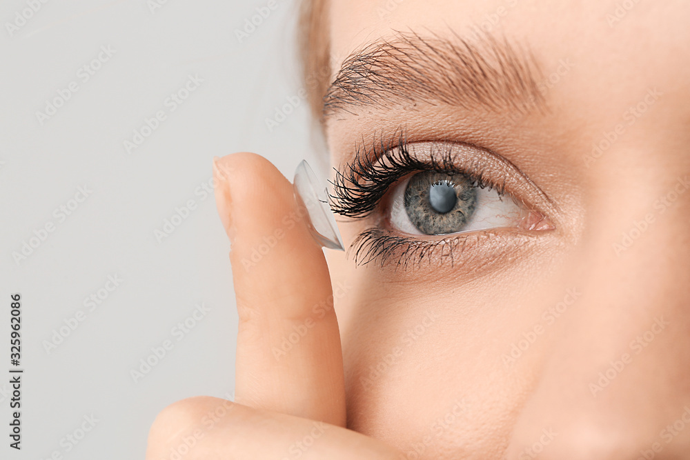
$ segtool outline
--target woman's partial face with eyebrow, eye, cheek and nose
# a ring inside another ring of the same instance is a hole
[[[329,3],[348,427],[690,452],[690,4]]]

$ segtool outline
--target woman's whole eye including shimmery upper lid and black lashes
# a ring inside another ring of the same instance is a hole
[[[381,144],[358,148],[333,181],[334,212],[370,224],[351,245],[357,264],[452,260],[473,232],[555,228],[547,217],[557,212],[549,197],[494,152],[451,141],[408,143],[404,136],[395,147]],[[527,237],[485,236],[508,243]]]

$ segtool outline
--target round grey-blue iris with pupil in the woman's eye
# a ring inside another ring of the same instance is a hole
[[[405,189],[405,210],[424,234],[462,231],[475,210],[477,187],[464,174],[418,172]]]

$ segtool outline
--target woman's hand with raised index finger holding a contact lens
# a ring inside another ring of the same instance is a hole
[[[146,459],[401,458],[345,428],[331,278],[292,184],[250,153],[218,159],[214,177],[239,314],[235,402],[196,397],[168,406],[151,428]]]

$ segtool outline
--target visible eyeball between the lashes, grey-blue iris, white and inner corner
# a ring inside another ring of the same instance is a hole
[[[475,184],[464,174],[435,171],[417,172],[395,184],[386,213],[393,230],[413,235],[554,228],[511,194]]]

